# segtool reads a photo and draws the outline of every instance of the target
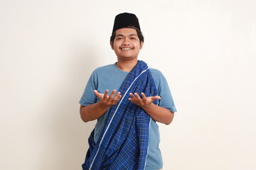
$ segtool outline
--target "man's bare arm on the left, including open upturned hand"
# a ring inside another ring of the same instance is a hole
[[[100,101],[88,106],[80,106],[80,117],[84,122],[100,118],[108,108],[117,104],[121,98],[120,92],[117,92],[116,96],[114,96],[116,90],[113,90],[110,96],[108,96],[108,90],[105,91],[105,94],[100,94],[97,90],[94,92],[95,95],[100,98]]]

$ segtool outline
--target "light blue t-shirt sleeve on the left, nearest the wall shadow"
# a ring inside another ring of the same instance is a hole
[[[97,102],[97,96],[95,96],[94,90],[97,89],[97,72],[92,72],[87,84],[85,86],[85,91],[80,98],[80,105],[87,106]]]

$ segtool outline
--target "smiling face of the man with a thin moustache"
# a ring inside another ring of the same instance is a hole
[[[137,60],[143,42],[139,41],[137,30],[133,28],[122,28],[116,30],[114,42],[110,42],[110,44],[119,61]]]

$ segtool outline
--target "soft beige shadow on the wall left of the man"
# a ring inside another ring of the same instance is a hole
[[[78,101],[96,65],[93,47],[75,45],[63,68],[59,84],[50,91],[41,115],[45,121],[45,144],[41,147],[40,170],[81,169],[88,149],[87,138],[95,126],[95,121],[83,123],[80,119]],[[65,69],[65,70],[64,70]]]

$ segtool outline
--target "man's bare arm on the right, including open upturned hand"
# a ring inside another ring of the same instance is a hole
[[[130,96],[131,98],[129,98],[129,100],[143,108],[144,111],[146,111],[146,113],[156,122],[169,125],[174,119],[174,113],[169,111],[167,108],[157,106],[153,103],[156,99],[161,99],[160,96],[146,97],[144,93],[142,93],[142,98],[137,93],[130,94]]]

